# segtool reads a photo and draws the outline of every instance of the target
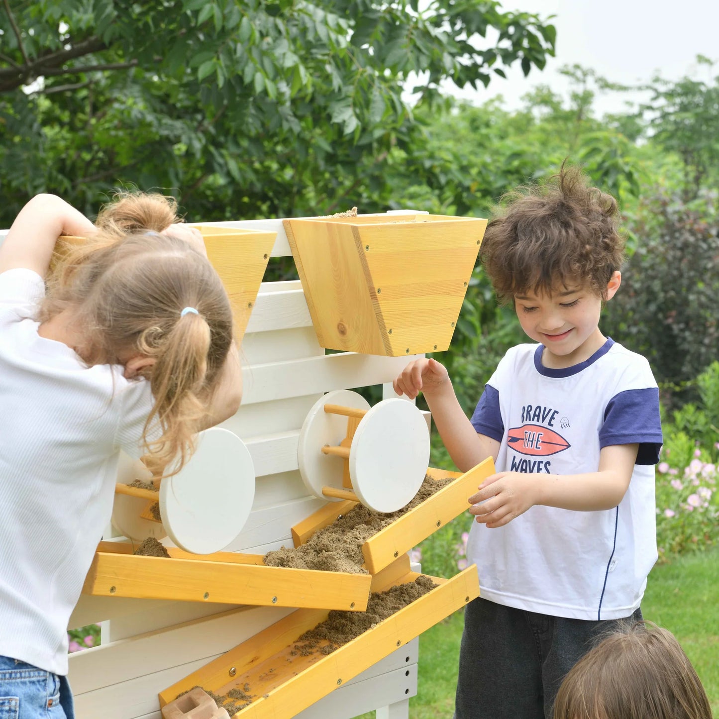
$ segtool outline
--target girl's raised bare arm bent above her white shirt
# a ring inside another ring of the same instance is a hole
[[[24,267],[44,278],[61,234],[88,237],[95,230],[86,216],[59,197],[36,195],[19,212],[0,246],[0,273]]]

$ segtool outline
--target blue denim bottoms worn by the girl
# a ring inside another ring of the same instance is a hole
[[[74,719],[67,677],[0,656],[0,719]]]

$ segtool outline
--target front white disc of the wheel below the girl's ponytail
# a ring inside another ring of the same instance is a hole
[[[160,516],[170,539],[193,554],[224,549],[241,531],[255,498],[255,465],[242,439],[213,427],[173,477],[160,483]]]

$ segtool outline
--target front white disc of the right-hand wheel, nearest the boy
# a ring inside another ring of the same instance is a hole
[[[399,398],[377,403],[362,418],[349,450],[349,476],[365,507],[395,512],[416,495],[429,466],[429,428]]]

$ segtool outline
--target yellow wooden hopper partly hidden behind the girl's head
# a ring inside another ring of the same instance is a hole
[[[202,233],[207,257],[227,290],[234,313],[235,340],[239,344],[247,329],[277,233],[202,224],[191,226]],[[86,241],[85,237],[59,237],[50,269],[57,265],[68,247]]]

